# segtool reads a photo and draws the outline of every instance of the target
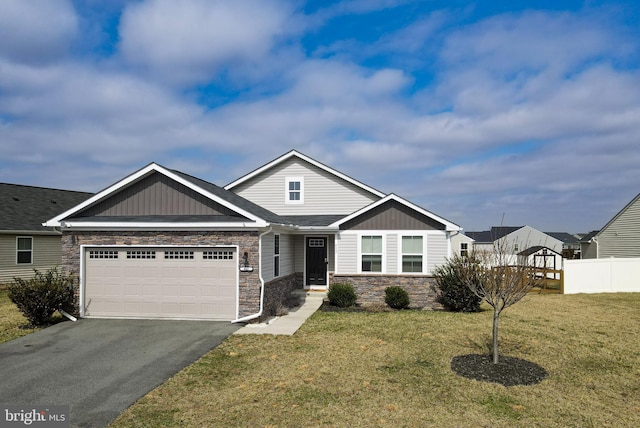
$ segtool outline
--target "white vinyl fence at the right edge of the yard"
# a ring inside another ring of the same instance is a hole
[[[640,258],[564,261],[564,293],[640,292]]]

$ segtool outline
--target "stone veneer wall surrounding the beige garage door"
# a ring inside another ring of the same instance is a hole
[[[81,245],[237,245],[238,266],[242,255],[249,254],[249,265],[253,272],[240,272],[240,317],[252,315],[260,310],[259,234],[255,232],[80,232],[62,233],[62,270],[80,273]],[[79,290],[77,290],[79,292]]]

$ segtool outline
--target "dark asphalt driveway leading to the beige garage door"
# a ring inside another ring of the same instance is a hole
[[[101,427],[238,325],[81,319],[0,344],[0,403],[70,405],[73,427]]]

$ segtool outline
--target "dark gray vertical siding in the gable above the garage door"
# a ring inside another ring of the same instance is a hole
[[[87,208],[81,215],[237,215],[237,213],[165,175],[154,173]]]

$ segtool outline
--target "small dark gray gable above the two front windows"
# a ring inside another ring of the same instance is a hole
[[[340,230],[445,230],[446,226],[395,200],[389,200],[340,225]]]

